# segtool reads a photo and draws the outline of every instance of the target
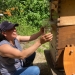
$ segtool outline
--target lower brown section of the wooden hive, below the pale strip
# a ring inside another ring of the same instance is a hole
[[[63,67],[63,51],[66,45],[75,44],[75,26],[56,27],[52,31],[51,55],[56,68]]]

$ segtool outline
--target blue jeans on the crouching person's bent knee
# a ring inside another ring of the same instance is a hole
[[[40,69],[37,66],[25,67],[15,71],[13,75],[40,75]]]

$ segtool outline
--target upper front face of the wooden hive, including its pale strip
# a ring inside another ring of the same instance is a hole
[[[61,0],[59,4],[58,26],[75,25],[75,0]]]

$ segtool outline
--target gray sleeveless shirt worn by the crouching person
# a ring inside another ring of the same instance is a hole
[[[22,50],[19,41],[17,39],[14,39],[14,42],[15,46],[12,46],[7,40],[2,40],[0,42],[0,46],[3,44],[9,44],[10,46],[17,48],[18,50]],[[16,71],[18,68],[21,68],[21,66],[22,60],[0,56],[0,72],[2,73],[2,75],[12,75],[11,73]]]

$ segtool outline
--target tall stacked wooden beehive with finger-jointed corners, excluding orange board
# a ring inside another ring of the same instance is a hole
[[[55,68],[63,68],[63,52],[67,44],[75,44],[75,0],[51,0],[53,40],[50,54]]]

